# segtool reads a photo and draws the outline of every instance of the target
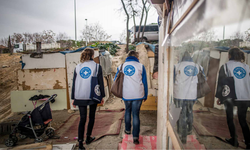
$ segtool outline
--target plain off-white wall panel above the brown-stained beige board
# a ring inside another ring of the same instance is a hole
[[[22,55],[25,63],[23,69],[65,68],[65,55],[61,53],[43,54],[43,58],[30,58],[30,54]]]

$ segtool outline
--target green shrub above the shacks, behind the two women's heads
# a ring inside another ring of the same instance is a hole
[[[95,42],[91,46],[92,47],[97,47],[100,50],[105,49],[105,50],[109,51],[111,55],[115,55],[115,53],[117,52],[117,49],[121,49],[119,46],[117,46],[116,44],[113,44],[113,43],[105,43],[105,44],[103,44],[103,43]]]

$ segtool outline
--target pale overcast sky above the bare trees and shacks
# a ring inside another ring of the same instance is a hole
[[[120,0],[76,1],[78,39],[87,19],[87,24],[99,23],[112,35],[110,40],[119,40],[120,34],[126,29],[126,17],[118,11],[122,6]],[[147,24],[156,23],[157,17],[152,7]],[[55,33],[65,32],[74,39],[74,0],[0,0],[0,27],[0,38],[15,32],[52,30]]]

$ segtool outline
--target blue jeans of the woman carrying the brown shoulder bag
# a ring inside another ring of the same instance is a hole
[[[140,133],[140,108],[142,100],[124,101],[126,111],[125,111],[125,130],[127,132],[131,131],[131,112],[133,115],[133,138],[139,139]]]

